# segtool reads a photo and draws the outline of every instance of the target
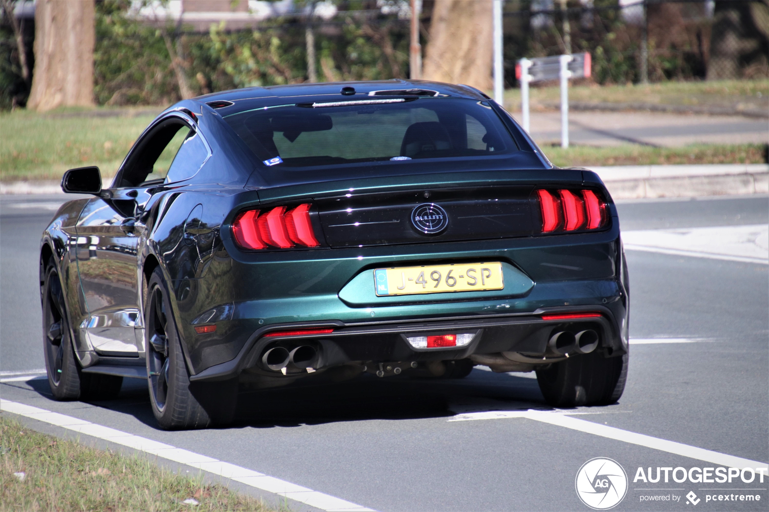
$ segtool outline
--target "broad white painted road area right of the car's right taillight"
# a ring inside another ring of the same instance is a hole
[[[769,265],[769,225],[623,231],[624,248]]]

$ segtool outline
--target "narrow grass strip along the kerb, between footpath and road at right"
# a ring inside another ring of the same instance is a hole
[[[765,164],[766,144],[692,144],[650,147],[626,144],[614,147],[559,146],[541,148],[559,167],[667,164]]]

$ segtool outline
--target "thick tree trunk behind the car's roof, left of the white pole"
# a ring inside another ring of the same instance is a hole
[[[435,0],[422,78],[491,90],[491,0]]]

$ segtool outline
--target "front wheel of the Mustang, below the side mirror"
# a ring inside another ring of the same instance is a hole
[[[45,267],[43,283],[43,352],[48,385],[56,400],[108,400],[115,398],[122,377],[83,373],[72,348],[62,282],[53,258]]]

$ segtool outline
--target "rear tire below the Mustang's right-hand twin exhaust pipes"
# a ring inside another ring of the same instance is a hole
[[[601,352],[591,352],[537,370],[542,395],[554,407],[614,404],[627,377],[628,354],[605,358]]]

